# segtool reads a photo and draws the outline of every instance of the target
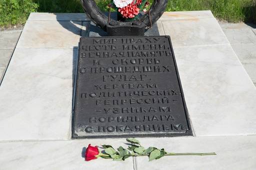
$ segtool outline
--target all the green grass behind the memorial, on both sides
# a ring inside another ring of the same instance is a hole
[[[110,0],[96,0],[105,10]],[[149,0],[152,1],[152,0]],[[256,23],[256,0],[169,0],[166,11],[211,10],[229,22]],[[30,12],[83,12],[80,0],[0,0],[0,27],[23,24]]]

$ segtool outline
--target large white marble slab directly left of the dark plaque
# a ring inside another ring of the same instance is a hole
[[[77,49],[16,48],[0,86],[0,140],[68,139]]]

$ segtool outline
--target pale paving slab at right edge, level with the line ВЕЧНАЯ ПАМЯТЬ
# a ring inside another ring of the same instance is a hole
[[[256,44],[232,44],[241,62],[256,62]]]

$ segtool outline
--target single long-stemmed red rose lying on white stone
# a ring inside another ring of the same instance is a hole
[[[126,139],[128,148],[124,149],[119,147],[117,151],[110,145],[102,145],[101,152],[98,150],[98,147],[90,146],[87,147],[87,150],[84,154],[85,161],[95,160],[97,158],[103,159],[113,159],[113,161],[124,161],[129,157],[141,157],[147,156],[149,161],[157,160],[163,156],[178,156],[178,155],[195,155],[195,156],[206,156],[206,155],[216,155],[215,153],[170,153],[166,152],[164,149],[157,149],[155,147],[148,147],[145,149],[142,147],[138,140],[134,138]]]

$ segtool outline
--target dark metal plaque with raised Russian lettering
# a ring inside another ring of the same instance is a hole
[[[169,36],[82,37],[72,138],[191,136]]]

